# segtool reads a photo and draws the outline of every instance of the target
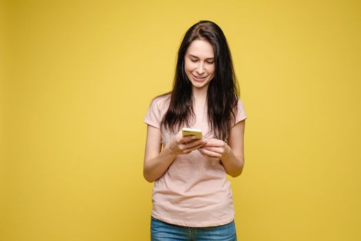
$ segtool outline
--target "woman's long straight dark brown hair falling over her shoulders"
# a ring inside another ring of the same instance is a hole
[[[184,55],[190,43],[196,39],[208,41],[215,53],[215,76],[210,81],[207,90],[208,123],[215,138],[226,140],[235,113],[237,113],[239,87],[226,36],[221,28],[212,21],[199,21],[184,35],[178,50],[173,90],[161,95],[171,94],[168,111],[164,115],[161,125],[175,133],[182,125],[190,126],[191,117],[195,117],[192,83],[184,70]]]

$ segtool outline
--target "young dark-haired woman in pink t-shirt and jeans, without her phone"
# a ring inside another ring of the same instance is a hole
[[[226,174],[243,169],[247,115],[221,28],[199,21],[179,47],[173,90],[151,102],[144,178],[154,182],[151,240],[237,240]],[[183,136],[182,127],[203,138]]]

